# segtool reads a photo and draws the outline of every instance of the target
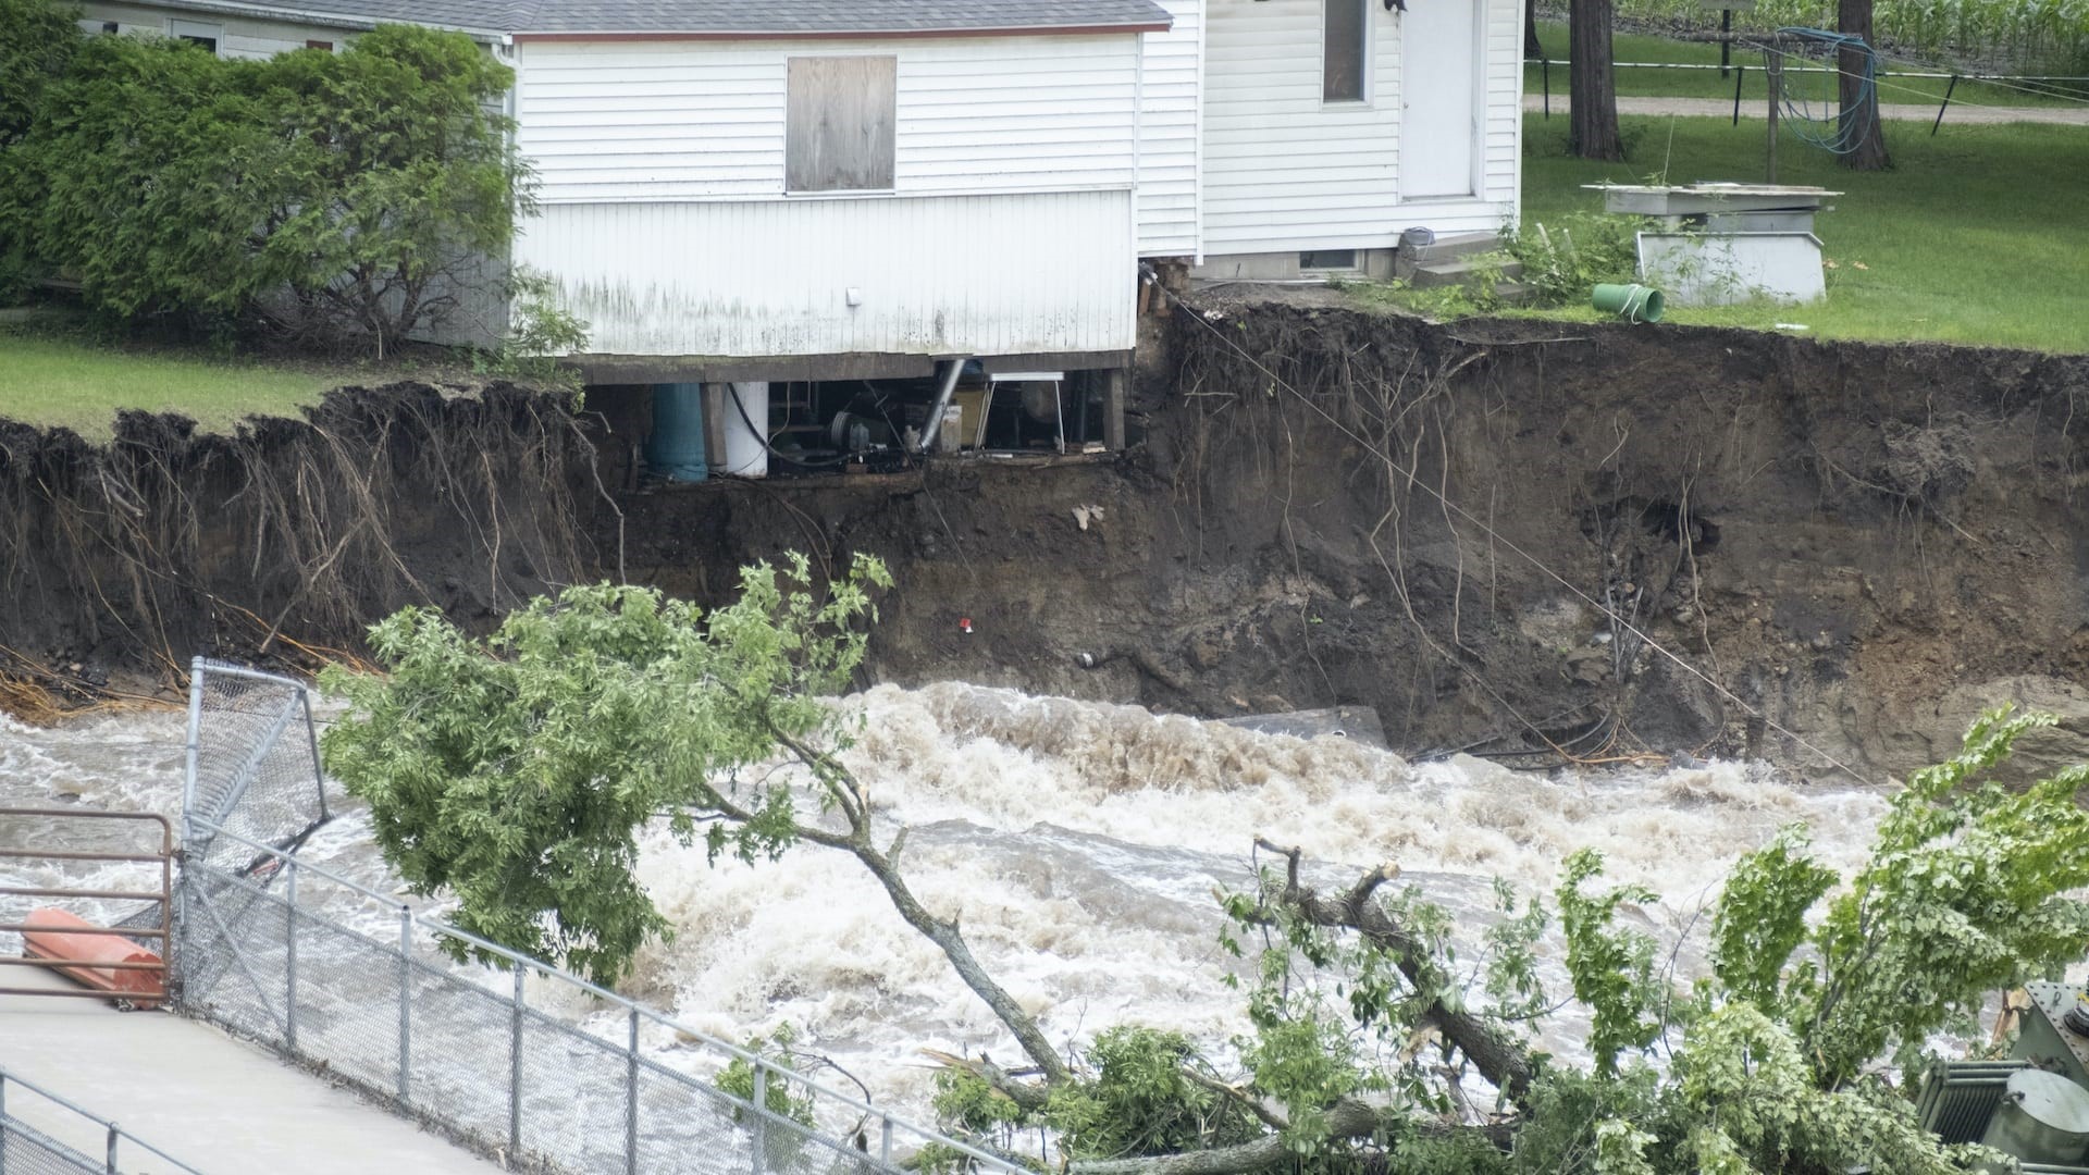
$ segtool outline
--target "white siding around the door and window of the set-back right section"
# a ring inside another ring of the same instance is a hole
[[[1431,0],[1408,0],[1427,4]],[[1400,203],[1400,15],[1377,0],[1364,102],[1324,102],[1322,0],[1205,0],[1203,253],[1391,249],[1400,232],[1496,230],[1517,215],[1519,0],[1485,4],[1481,192]]]

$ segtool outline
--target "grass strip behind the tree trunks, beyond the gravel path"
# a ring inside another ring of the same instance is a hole
[[[1546,56],[1552,59],[1552,96],[1556,100],[1567,98],[1567,25],[1554,21],[1538,23],[1538,42],[1546,46]],[[1707,42],[1680,42],[1669,38],[1654,38],[1642,33],[1617,33],[1611,44],[1611,61],[1619,63],[1688,63],[1688,65],[1719,65],[1719,46]],[[1740,73],[1740,100],[1742,115],[1761,117],[1763,100],[1767,96],[1767,84],[1763,77],[1763,52],[1753,48],[1734,46],[1734,65],[1744,67]],[[1878,79],[1878,100],[1880,102],[1911,102],[1918,107],[1937,107],[1943,102],[1945,88],[1949,79],[1943,77],[1895,77],[1895,69],[1907,69],[1916,73],[1939,73],[1928,65],[1918,63],[1886,63],[1886,75]],[[2033,69],[2031,73],[2045,73],[2043,69]],[[1632,96],[1680,96],[1680,98],[1726,98],[1734,100],[1734,77],[1719,77],[1717,69],[1615,69],[1611,73],[1619,94]],[[1786,71],[1786,90],[1792,96],[1809,96],[1820,100],[1834,98],[1832,79],[1826,75],[1792,75]],[[1995,86],[1987,82],[1959,82],[1957,90],[1951,92],[1951,105],[1976,105],[1976,107],[2081,107],[2081,96],[2053,96],[2053,94],[2033,94],[2024,84]],[[1544,94],[1544,69],[1538,65],[1523,67],[1523,92]],[[1746,121],[1746,119],[1742,119]],[[1945,125],[1951,125],[1951,115],[1945,113]]]

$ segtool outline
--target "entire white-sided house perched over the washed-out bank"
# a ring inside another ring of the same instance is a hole
[[[591,324],[591,383],[838,383],[1122,372],[1141,257],[1383,272],[1410,228],[1500,228],[1521,2],[90,0],[84,23],[224,54],[468,31],[516,69],[541,215],[514,261]]]

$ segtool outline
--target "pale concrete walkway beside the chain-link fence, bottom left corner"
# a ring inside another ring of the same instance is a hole
[[[65,983],[36,968],[4,972],[6,987]],[[0,1066],[203,1175],[499,1171],[274,1054],[169,1012],[4,995]],[[107,1148],[102,1131],[19,1087],[8,1089],[6,1110],[88,1156]],[[123,1156],[123,1171],[165,1171],[142,1150],[125,1146]]]

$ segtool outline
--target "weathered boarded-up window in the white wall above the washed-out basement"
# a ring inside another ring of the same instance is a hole
[[[783,188],[875,192],[892,188],[896,56],[790,59]]]

